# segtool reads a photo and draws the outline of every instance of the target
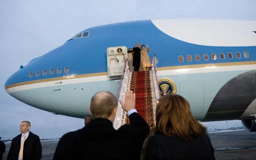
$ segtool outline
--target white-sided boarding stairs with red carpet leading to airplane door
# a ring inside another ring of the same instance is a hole
[[[155,68],[155,56],[152,57],[152,69],[149,71],[130,72],[127,59],[124,60],[121,81],[116,96],[118,108],[113,123],[115,129],[124,124],[129,124],[128,115],[123,111],[119,102],[119,100],[125,102],[124,93],[127,90],[132,90],[136,95],[135,108],[138,114],[147,122],[150,130],[154,128],[156,103],[160,96]]]

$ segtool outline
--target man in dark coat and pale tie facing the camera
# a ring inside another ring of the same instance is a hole
[[[29,131],[30,126],[28,121],[21,122],[21,134],[12,139],[7,160],[41,160],[41,142],[37,135]]]

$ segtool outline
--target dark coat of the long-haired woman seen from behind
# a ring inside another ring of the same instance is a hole
[[[145,160],[215,160],[214,149],[205,133],[194,140],[182,140],[160,133],[147,145]]]

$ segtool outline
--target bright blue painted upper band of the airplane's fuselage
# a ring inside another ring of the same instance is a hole
[[[157,67],[253,61],[255,59],[254,55],[256,55],[255,46],[217,47],[195,45],[180,41],[160,31],[153,25],[151,20],[114,23],[88,28],[82,32],[84,31],[89,31],[88,37],[71,39],[60,47],[29,62],[24,68],[9,77],[5,87],[19,82],[62,77],[70,74],[107,72],[106,49],[111,46],[133,48],[137,42],[141,45],[149,45],[149,56],[151,57],[155,53],[158,58]],[[242,54],[244,51],[249,53],[249,58],[245,59],[243,55],[240,59],[227,58],[227,52],[232,52],[233,56],[235,56],[235,52]],[[195,54],[200,54],[202,59],[204,53],[208,54],[209,60],[194,60]],[[216,53],[217,55],[224,53],[225,59],[217,58],[217,60],[211,60],[211,53]],[[182,63],[178,62],[178,55],[185,57],[188,54],[193,58],[191,62],[187,62],[186,59]],[[63,68],[66,66],[69,67],[68,73],[63,71]],[[58,67],[62,68],[61,74],[56,73]],[[54,69],[53,75],[49,75],[51,68]],[[46,76],[42,76],[44,69],[47,70]],[[36,71],[40,71],[40,76],[35,76]],[[32,78],[28,77],[30,72],[33,72]]]

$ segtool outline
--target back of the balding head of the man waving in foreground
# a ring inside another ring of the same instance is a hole
[[[108,91],[97,92],[90,100],[90,112],[94,118],[108,118],[116,107],[117,100]]]

